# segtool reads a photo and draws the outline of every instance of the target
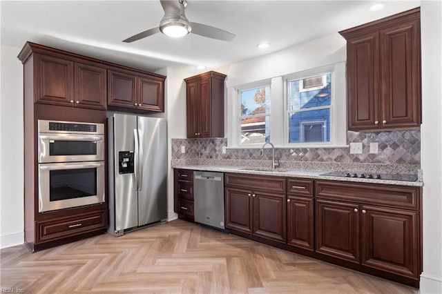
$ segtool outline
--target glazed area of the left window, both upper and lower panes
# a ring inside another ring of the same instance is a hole
[[[240,145],[270,140],[270,86],[239,91]]]

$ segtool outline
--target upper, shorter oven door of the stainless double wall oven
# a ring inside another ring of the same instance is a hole
[[[104,160],[104,135],[39,133],[39,163]]]

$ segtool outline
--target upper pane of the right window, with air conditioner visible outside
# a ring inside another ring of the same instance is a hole
[[[319,86],[313,86],[323,80]],[[289,110],[305,109],[319,106],[329,106],[331,101],[330,73],[311,77],[308,79],[296,79],[289,81]]]

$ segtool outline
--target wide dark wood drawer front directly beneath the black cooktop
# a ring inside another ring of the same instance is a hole
[[[315,190],[320,198],[408,209],[419,209],[421,195],[420,187],[319,180]]]

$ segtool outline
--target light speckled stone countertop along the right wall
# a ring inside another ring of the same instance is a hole
[[[399,186],[423,186],[421,177],[416,182],[409,181],[393,181],[387,179],[363,179],[354,177],[332,177],[322,175],[334,170],[300,170],[281,168],[272,171],[270,168],[262,168],[263,170],[256,170],[256,167],[242,167],[242,166],[216,166],[210,164],[172,164],[172,168],[182,168],[189,170],[207,170],[222,173],[247,173],[250,175],[273,175],[278,177],[300,177],[305,179],[328,179],[334,181],[343,182],[359,182],[359,183],[378,183],[378,184],[390,184]]]

